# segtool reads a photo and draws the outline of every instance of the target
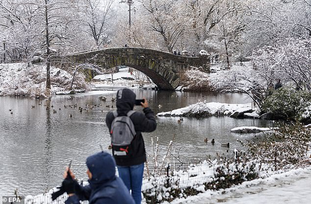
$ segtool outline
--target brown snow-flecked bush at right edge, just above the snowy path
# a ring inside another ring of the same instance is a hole
[[[254,143],[248,141],[251,159],[260,159],[275,170],[295,169],[301,167],[305,161],[310,165],[308,144],[311,141],[311,130],[300,123],[279,124],[262,141]],[[309,163],[308,163],[309,162]]]

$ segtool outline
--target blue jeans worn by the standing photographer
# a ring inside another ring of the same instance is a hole
[[[143,182],[144,163],[133,166],[117,166],[119,177],[131,190],[135,204],[141,203],[141,185]]]

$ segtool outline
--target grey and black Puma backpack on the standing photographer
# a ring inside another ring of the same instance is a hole
[[[131,142],[136,135],[134,124],[130,116],[135,113],[135,111],[130,110],[127,116],[118,116],[116,110],[112,113],[115,117],[110,128],[112,154],[116,157],[129,157],[132,155]]]

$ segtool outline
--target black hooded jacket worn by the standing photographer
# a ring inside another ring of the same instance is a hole
[[[130,89],[120,89],[117,93],[117,112],[118,116],[126,116],[133,109],[136,95]],[[145,144],[141,132],[152,132],[156,129],[154,112],[149,108],[144,108],[143,112],[135,112],[130,116],[136,136],[132,141],[133,155],[126,159],[114,156],[118,166],[132,166],[146,161]],[[111,128],[114,119],[113,113],[109,112],[106,116],[106,125]]]

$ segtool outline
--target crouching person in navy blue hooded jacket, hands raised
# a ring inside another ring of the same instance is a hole
[[[90,204],[134,204],[127,187],[115,176],[116,164],[109,153],[96,153],[86,159],[89,185],[79,185],[75,175],[67,167],[63,188],[68,194],[65,204],[80,204],[88,200]],[[67,177],[68,172],[71,177]]]

